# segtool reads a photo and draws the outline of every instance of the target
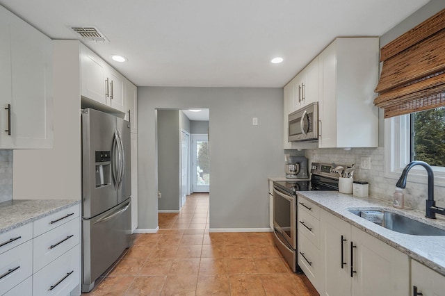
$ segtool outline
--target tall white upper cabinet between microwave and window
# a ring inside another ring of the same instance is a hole
[[[318,56],[318,147],[378,147],[378,44],[378,38],[337,38]]]

